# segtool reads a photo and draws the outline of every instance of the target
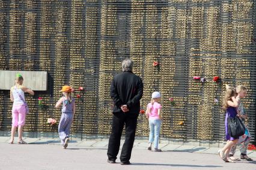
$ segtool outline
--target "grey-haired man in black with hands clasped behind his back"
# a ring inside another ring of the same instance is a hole
[[[111,83],[110,95],[114,101],[112,132],[108,144],[108,162],[115,163],[120,148],[120,139],[124,125],[126,138],[121,151],[122,165],[130,164],[133,142],[140,110],[139,100],[143,94],[143,83],[140,77],[132,72],[133,62],[123,60],[123,72],[114,76]]]

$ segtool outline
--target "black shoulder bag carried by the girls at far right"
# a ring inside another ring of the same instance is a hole
[[[228,134],[233,138],[239,138],[245,134],[245,125],[239,117],[228,117]]]

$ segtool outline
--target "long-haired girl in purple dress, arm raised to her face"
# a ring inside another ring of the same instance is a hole
[[[227,112],[226,119],[225,119],[225,131],[226,131],[225,134],[226,134],[227,143],[224,146],[224,148],[218,151],[218,153],[221,159],[224,160],[225,162],[234,162],[229,157],[230,150],[231,150],[231,147],[238,142],[239,138],[233,138],[228,133],[228,117],[237,116],[236,107],[238,107],[238,103],[236,101],[236,92],[227,84],[226,84],[226,93],[223,98],[222,107]]]

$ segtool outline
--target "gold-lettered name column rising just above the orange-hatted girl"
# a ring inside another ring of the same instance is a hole
[[[67,41],[67,17],[69,8],[64,2],[56,2],[55,10],[55,60],[54,60],[54,84],[53,84],[53,102],[56,103],[61,97],[59,90],[65,85],[66,63],[69,60],[69,42]],[[54,109],[53,117],[59,120],[61,110]],[[50,125],[49,125],[50,126]],[[55,127],[57,128],[57,127]]]

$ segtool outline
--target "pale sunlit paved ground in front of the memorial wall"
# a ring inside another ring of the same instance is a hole
[[[256,169],[256,161],[225,163],[214,152],[218,148],[162,144],[162,153],[135,142],[132,165],[106,163],[108,141],[73,141],[67,150],[53,139],[27,138],[29,144],[8,144],[0,137],[0,169]],[[203,151],[204,150],[204,151]],[[208,153],[206,152],[208,150]],[[201,152],[201,153],[198,153]],[[256,160],[255,153],[250,153]],[[117,162],[120,162],[117,159]]]

